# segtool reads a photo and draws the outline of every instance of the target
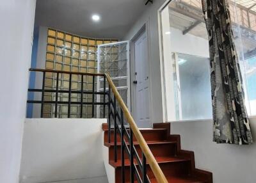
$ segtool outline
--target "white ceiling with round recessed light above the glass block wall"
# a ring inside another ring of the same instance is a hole
[[[146,0],[37,0],[36,26],[46,26],[93,38],[123,38],[141,13]],[[92,14],[100,22],[92,21]]]

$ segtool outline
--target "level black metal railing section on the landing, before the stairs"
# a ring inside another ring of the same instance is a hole
[[[70,108],[72,105],[79,105],[80,111],[79,111],[79,117],[83,118],[83,106],[84,105],[90,105],[92,106],[92,118],[95,117],[95,106],[103,106],[102,107],[102,117],[106,116],[106,105],[108,105],[108,102],[106,102],[106,97],[108,96],[108,93],[106,92],[106,76],[104,74],[90,74],[90,73],[82,73],[82,72],[65,72],[65,71],[58,71],[58,70],[45,70],[45,69],[36,69],[31,68],[29,69],[30,72],[42,72],[42,88],[29,88],[28,92],[41,92],[42,97],[40,100],[27,100],[28,104],[41,104],[41,111],[40,111],[40,118],[44,117],[44,105],[45,104],[53,104],[54,106],[54,118],[58,117],[58,105],[59,104],[66,104],[68,106],[68,113],[67,117],[70,118]],[[47,73],[54,73],[56,74],[56,77],[54,77],[54,82],[56,82],[56,86],[54,86],[54,89],[45,89],[45,75]],[[60,74],[68,74],[68,90],[59,90],[59,82],[60,82]],[[79,76],[81,77],[81,89],[80,90],[72,90],[72,76]],[[91,76],[92,79],[92,90],[84,90],[84,84],[87,84],[84,82],[84,76]],[[104,81],[104,88],[102,92],[97,92],[95,88],[95,77],[103,77]],[[55,100],[45,100],[45,93],[55,93]],[[60,93],[68,93],[68,101],[60,101],[58,100],[58,95]],[[80,95],[80,101],[74,102],[71,100],[71,95],[75,93]],[[84,94],[90,94],[92,95],[92,102],[84,101]],[[95,101],[95,95],[102,95],[103,102],[97,102]],[[99,117],[99,116],[98,116]]]

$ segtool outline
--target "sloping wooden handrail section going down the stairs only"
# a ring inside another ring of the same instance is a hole
[[[125,116],[127,122],[129,123],[129,125],[132,129],[132,132],[133,132],[134,136],[136,137],[143,154],[145,155],[145,157],[148,161],[148,164],[150,165],[151,170],[153,171],[153,173],[154,173],[154,175],[157,179],[157,182],[168,183],[166,177],[164,176],[163,171],[161,170],[161,168],[160,168],[159,164],[157,163],[154,155],[150,151],[145,139],[143,138],[140,130],[138,129],[136,123],[134,122],[134,119],[132,118],[131,113],[129,112],[128,108],[126,107],[126,105],[124,103],[124,100],[122,99],[122,97],[118,93],[118,91],[116,89],[116,86],[113,83],[111,77],[109,76],[109,74],[105,74],[105,76],[106,76],[106,79],[108,80],[110,88],[113,91],[113,94],[116,97],[116,100],[118,101],[121,109],[124,112],[124,116]]]

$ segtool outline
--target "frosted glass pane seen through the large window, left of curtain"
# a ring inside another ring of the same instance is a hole
[[[209,58],[188,54],[177,54],[175,58],[179,120],[212,118]]]

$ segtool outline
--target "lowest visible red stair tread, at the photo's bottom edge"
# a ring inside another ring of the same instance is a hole
[[[194,177],[166,177],[168,182],[172,183],[204,183],[204,181],[196,179]],[[134,181],[137,182],[137,181]],[[156,179],[150,179],[151,183],[157,183]]]

